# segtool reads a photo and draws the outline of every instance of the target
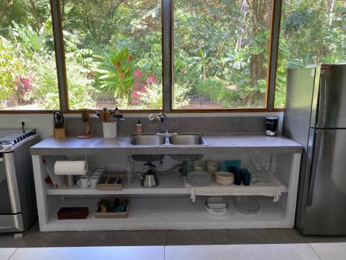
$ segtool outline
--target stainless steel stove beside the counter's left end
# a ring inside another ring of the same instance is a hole
[[[39,140],[35,130],[0,129],[0,232],[24,232],[37,217],[30,147]]]

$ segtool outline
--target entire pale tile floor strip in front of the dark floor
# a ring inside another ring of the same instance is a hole
[[[1,260],[345,260],[346,243],[0,248]]]

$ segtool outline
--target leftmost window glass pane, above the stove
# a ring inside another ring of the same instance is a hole
[[[49,0],[0,1],[0,110],[56,110]]]

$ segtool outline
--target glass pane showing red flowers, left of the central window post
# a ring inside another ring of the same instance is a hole
[[[161,109],[161,1],[60,5],[70,109]]]

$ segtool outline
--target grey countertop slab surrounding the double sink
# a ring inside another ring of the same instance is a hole
[[[96,136],[91,139],[66,137],[44,139],[31,148],[31,155],[92,155],[111,149],[133,155],[191,153],[301,153],[302,146],[284,136],[268,137],[262,133],[203,134],[208,146],[128,146],[130,135],[114,139]]]

